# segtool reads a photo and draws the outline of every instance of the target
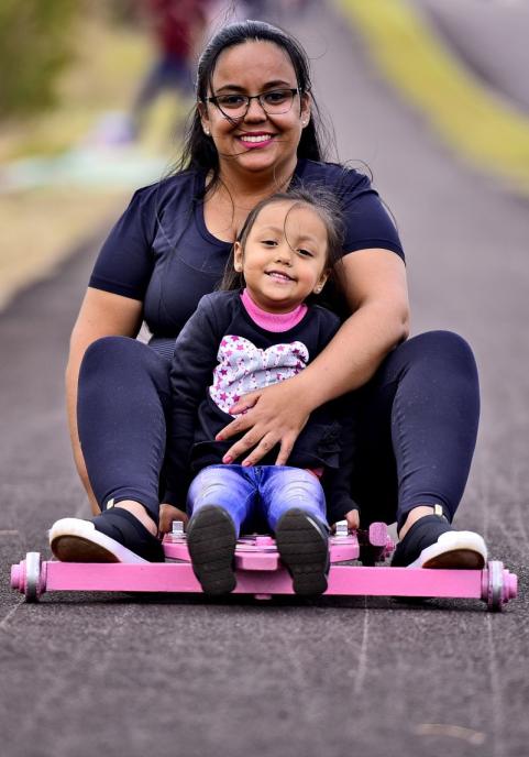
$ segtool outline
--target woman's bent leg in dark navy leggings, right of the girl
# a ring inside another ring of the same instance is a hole
[[[353,498],[361,505],[364,524],[396,519],[399,531],[411,536],[410,526],[417,522],[420,545],[406,549],[404,557],[403,549],[396,555],[412,562],[427,546],[437,544],[440,528],[454,533],[448,522],[463,495],[477,434],[474,358],[454,333],[420,334],[387,356],[373,380],[354,393],[353,403],[357,419]],[[432,516],[434,512],[442,513],[443,523]],[[443,537],[443,544],[454,547],[459,537],[451,539]],[[471,551],[474,547],[484,551],[478,539]],[[483,559],[482,555],[478,561]]]

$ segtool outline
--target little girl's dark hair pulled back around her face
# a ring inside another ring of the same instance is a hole
[[[254,208],[252,208],[246,220],[244,221],[244,226],[239,232],[236,241],[241,244],[244,251],[249,234],[252,231],[252,228],[263,208],[266,208],[273,202],[285,201],[293,202],[293,208],[311,208],[323,222],[327,231],[326,268],[331,270],[331,277],[334,283],[337,283],[338,279],[335,276],[335,267],[342,261],[344,224],[340,205],[334,195],[328,189],[323,189],[321,187],[310,187],[310,189],[307,187],[297,187],[296,189],[278,191],[271,197],[266,197],[264,200],[261,200],[261,202],[257,202]],[[239,289],[243,286],[244,276],[242,273],[238,273],[234,268],[234,249],[232,249],[224,270],[224,276],[219,288]],[[308,301],[310,301],[310,298]]]

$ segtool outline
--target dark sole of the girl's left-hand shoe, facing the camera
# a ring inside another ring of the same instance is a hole
[[[236,531],[223,507],[200,507],[187,527],[192,570],[206,594],[228,594],[236,586]]]

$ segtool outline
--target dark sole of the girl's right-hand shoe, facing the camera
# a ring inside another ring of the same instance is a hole
[[[315,596],[327,591],[330,556],[326,525],[293,507],[279,518],[276,545],[283,564],[293,577],[296,594]]]

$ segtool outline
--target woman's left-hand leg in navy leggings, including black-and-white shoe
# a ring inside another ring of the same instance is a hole
[[[152,531],[158,519],[168,372],[168,360],[134,339],[106,337],[88,348],[79,374],[78,429],[102,514],[53,526],[52,549],[59,559],[163,560]]]

